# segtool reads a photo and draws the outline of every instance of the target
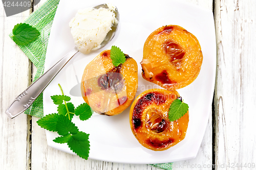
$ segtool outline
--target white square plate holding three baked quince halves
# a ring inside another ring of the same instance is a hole
[[[83,103],[81,96],[72,96],[70,90],[80,83],[83,70],[101,51],[110,49],[112,45],[121,48],[138,63],[139,86],[137,94],[149,88],[160,88],[141,77],[143,45],[153,31],[165,25],[179,25],[194,34],[202,47],[203,64],[198,78],[178,89],[185,103],[189,105],[189,124],[184,140],[166,151],[148,150],[134,137],[129,124],[130,107],[116,116],[104,116],[94,113],[84,122],[78,117],[72,121],[80,131],[90,134],[89,158],[121,163],[165,163],[195,158],[211,112],[212,96],[214,94],[216,74],[216,40],[214,17],[211,11],[198,6],[178,1],[84,1],[61,0],[53,21],[46,55],[45,70],[48,70],[59,59],[74,48],[70,33],[69,21],[78,9],[94,7],[103,3],[113,3],[120,13],[120,25],[114,39],[102,49],[89,55],[78,53],[55,77],[44,91],[44,113],[56,113],[50,96],[61,94],[58,83],[66,95],[71,96],[71,102],[77,107]],[[78,81],[76,79],[78,77]],[[74,154],[68,145],[55,143],[52,140],[58,136],[47,131],[47,141],[50,147]]]

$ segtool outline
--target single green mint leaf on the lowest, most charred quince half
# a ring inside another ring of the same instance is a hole
[[[174,122],[181,118],[188,111],[188,105],[181,102],[179,99],[173,101],[169,108],[169,120],[170,122]]]

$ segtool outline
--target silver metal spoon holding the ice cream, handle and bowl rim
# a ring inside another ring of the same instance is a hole
[[[101,4],[96,7],[95,9],[99,8],[106,8],[108,9],[108,5]],[[116,19],[119,23],[119,13],[116,8],[114,11],[116,15]],[[115,36],[115,33],[118,28],[118,23],[112,26],[112,30],[108,32],[106,37],[104,38],[103,42],[100,44],[98,50],[108,44]],[[94,50],[94,49],[92,49]],[[65,57],[59,60],[53,67],[51,67],[48,71],[44,73],[41,77],[39,77],[34,83],[32,83],[26,90],[24,90],[18,97],[12,102],[12,104],[6,110],[6,114],[9,117],[14,118],[20,113],[23,113],[27,110],[32,103],[36,100],[39,94],[50,84],[50,82],[54,79],[54,77],[59,73],[59,71],[70,61],[72,57],[74,57],[78,53],[77,48],[75,47],[72,51],[70,51]]]

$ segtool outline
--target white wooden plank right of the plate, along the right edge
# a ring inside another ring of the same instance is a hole
[[[215,4],[216,32],[219,33],[215,162],[226,169],[246,169],[236,167],[237,163],[239,166],[256,163],[255,9],[256,2],[249,0],[218,0]]]

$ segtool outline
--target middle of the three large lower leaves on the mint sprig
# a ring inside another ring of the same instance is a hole
[[[71,120],[64,115],[59,115],[59,118],[56,124],[56,130],[57,130],[57,133],[61,136],[66,136],[69,133],[77,134],[79,132],[75,124],[73,124]]]

